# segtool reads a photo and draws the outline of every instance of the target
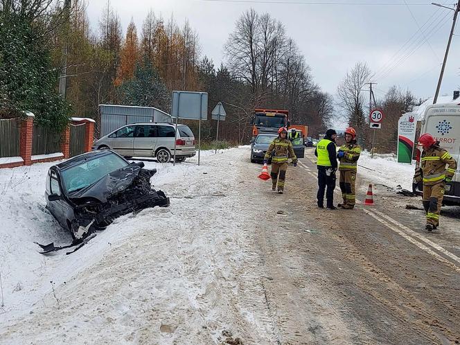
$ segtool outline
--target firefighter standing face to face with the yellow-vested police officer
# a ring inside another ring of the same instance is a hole
[[[337,159],[340,161],[339,186],[344,198],[344,203],[339,204],[339,207],[351,210],[355,207],[357,160],[360,159],[361,154],[361,147],[356,143],[356,131],[353,127],[345,130],[345,141],[346,143],[340,146],[337,153]]]

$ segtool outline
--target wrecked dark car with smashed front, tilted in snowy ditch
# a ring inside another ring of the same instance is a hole
[[[111,150],[88,152],[52,166],[46,178],[46,209],[76,242],[121,215],[169,206],[169,198],[150,184],[157,170],[143,166]]]

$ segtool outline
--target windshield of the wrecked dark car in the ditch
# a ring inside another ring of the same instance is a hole
[[[116,154],[106,154],[89,161],[84,161],[78,166],[73,166],[62,171],[62,180],[67,193],[79,191],[98,182],[110,172],[127,166],[128,163]]]

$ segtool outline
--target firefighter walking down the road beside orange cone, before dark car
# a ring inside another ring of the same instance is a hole
[[[269,145],[263,161],[265,164],[272,157],[272,172],[270,173],[270,176],[272,176],[272,191],[276,191],[276,183],[278,183],[278,193],[280,194],[283,194],[284,190],[288,158],[291,157],[292,163],[297,166],[297,157],[287,136],[288,130],[285,127],[281,127],[278,130],[278,138],[274,139]]]

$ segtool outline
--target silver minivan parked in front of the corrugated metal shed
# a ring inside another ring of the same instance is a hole
[[[160,163],[168,163],[174,156],[182,162],[195,156],[195,136],[186,125],[172,123],[133,123],[118,128],[94,142],[93,150],[110,149],[124,157],[157,157]]]

